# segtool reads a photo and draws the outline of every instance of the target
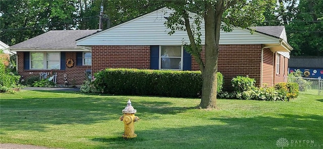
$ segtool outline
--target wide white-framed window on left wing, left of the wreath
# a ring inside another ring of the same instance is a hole
[[[30,52],[31,69],[61,69],[60,52]]]

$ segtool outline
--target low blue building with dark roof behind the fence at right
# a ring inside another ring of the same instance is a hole
[[[291,56],[288,71],[301,70],[303,77],[323,78],[323,56]]]

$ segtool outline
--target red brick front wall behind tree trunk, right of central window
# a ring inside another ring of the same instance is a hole
[[[204,49],[202,51],[204,60]],[[218,71],[224,76],[224,88],[231,88],[231,80],[236,76],[254,78],[260,85],[261,45],[220,45]],[[199,70],[198,64],[192,58],[192,70]]]

